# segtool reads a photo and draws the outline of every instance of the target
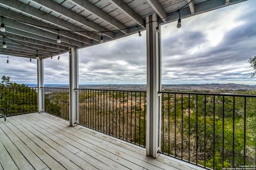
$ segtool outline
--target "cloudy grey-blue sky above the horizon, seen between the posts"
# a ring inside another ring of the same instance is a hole
[[[162,26],[163,84],[255,84],[256,1],[231,5]],[[1,55],[0,55],[1,56]],[[3,56],[3,55],[2,55]],[[0,58],[0,75],[36,83],[36,61]],[[44,61],[45,83],[68,83],[68,55]],[[79,50],[80,84],[145,84],[146,32]]]

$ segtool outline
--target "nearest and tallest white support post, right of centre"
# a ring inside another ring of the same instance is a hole
[[[161,133],[161,34],[156,32],[157,14],[147,16],[147,155],[157,158]],[[161,28],[158,25],[159,32]]]

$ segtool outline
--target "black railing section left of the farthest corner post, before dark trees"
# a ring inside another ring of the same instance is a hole
[[[6,116],[34,113],[37,108],[36,87],[0,87],[0,108]]]

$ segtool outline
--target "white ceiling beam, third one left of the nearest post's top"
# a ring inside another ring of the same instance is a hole
[[[109,31],[108,29],[102,27],[101,25],[99,25],[89,19],[86,19],[84,16],[79,15],[76,12],[71,11],[68,8],[66,8],[58,3],[55,3],[52,0],[33,0],[33,2],[35,2],[39,5],[42,5],[44,7],[47,7],[54,12],[57,12],[63,16],[68,17],[69,19],[73,19],[73,20],[75,20],[75,21],[85,25],[86,27],[89,27],[89,28],[95,30],[95,31]],[[110,38],[114,38],[113,32],[105,32],[103,34]]]

